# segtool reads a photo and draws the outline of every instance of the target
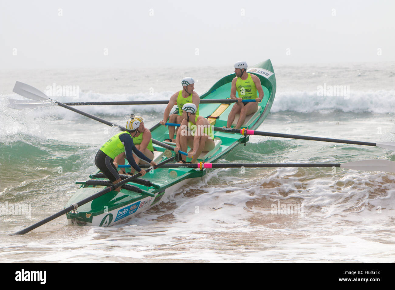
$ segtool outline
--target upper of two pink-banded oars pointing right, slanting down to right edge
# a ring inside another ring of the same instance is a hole
[[[166,123],[169,126],[180,126],[180,124],[175,123]],[[321,138],[321,137],[310,137],[310,136],[302,136],[302,135],[290,135],[290,134],[282,134],[282,133],[271,133],[271,132],[263,132],[263,131],[255,131],[249,129],[231,129],[224,127],[213,127],[214,131],[226,132],[226,133],[239,133],[241,135],[260,135],[260,136],[268,136],[268,137],[279,137],[279,138],[292,138],[292,139],[302,139],[302,140],[313,140],[313,141],[324,141],[324,142],[333,142],[333,143],[344,143],[344,144],[354,144],[354,145],[366,145],[366,146],[377,146],[388,150],[395,150],[395,142],[361,142],[361,141],[352,141],[352,140],[343,140],[343,139],[332,139],[332,138]]]

